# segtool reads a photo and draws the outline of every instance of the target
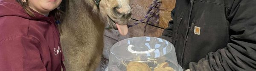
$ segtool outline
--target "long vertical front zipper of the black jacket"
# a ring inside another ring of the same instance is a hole
[[[190,11],[189,11],[189,19],[188,19],[188,26],[189,26],[189,23],[190,23],[190,16],[191,16],[191,13],[192,13],[192,8],[193,8],[193,4],[194,4],[194,0],[190,0]],[[184,56],[184,52],[185,52],[185,47],[186,47],[186,41],[188,39],[188,33],[189,33],[189,29],[191,27],[187,28],[186,30],[186,40],[184,41],[184,45],[183,45],[183,51],[182,51],[182,56],[181,56],[181,61],[180,61],[180,65],[183,66],[183,56]],[[184,67],[182,67],[184,68]]]

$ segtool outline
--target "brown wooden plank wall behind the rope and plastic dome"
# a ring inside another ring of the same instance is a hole
[[[130,0],[132,19],[128,24],[131,25],[134,22],[137,22],[137,20],[143,19],[152,1],[153,0]],[[176,0],[162,0],[162,5],[160,6],[160,23],[159,25],[148,24],[145,33],[146,36],[159,37],[163,30],[168,27],[168,22],[171,20],[170,13],[175,7],[175,1]],[[106,29],[104,32],[104,50],[102,62],[97,71],[104,71],[108,66],[109,52],[113,44],[126,38],[143,36],[143,31],[145,30],[144,25],[145,23],[142,22],[134,27],[130,27],[128,29],[128,34],[125,36],[119,35],[118,30]]]

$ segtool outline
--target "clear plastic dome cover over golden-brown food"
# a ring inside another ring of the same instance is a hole
[[[162,38],[134,37],[111,47],[106,71],[183,71],[174,46]]]

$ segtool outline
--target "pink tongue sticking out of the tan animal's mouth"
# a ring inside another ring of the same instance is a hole
[[[127,25],[119,25],[116,23],[116,27],[121,35],[126,35],[128,33]]]

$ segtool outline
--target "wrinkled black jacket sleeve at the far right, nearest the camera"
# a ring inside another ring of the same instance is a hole
[[[190,71],[256,71],[256,0],[227,0],[230,43],[209,52]]]

